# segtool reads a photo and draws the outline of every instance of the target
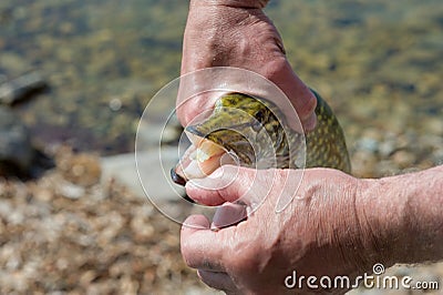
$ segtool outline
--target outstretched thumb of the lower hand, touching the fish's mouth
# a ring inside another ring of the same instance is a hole
[[[248,192],[253,187],[256,174],[256,170],[223,165],[208,177],[188,181],[186,194],[197,203],[208,206],[234,203],[240,199],[248,204]]]

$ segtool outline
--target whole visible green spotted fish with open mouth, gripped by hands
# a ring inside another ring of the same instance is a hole
[[[312,131],[289,128],[269,100],[231,92],[220,95],[212,114],[186,126],[192,145],[171,170],[185,185],[224,164],[253,169],[331,167],[351,173],[343,130],[328,103],[315,91],[317,124]]]

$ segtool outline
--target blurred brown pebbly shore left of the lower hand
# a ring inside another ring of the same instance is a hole
[[[216,294],[184,264],[177,224],[115,181],[71,182],[73,157],[61,148],[42,179],[0,179],[1,294]]]

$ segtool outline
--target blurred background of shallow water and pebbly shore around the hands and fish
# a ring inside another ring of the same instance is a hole
[[[270,0],[266,12],[336,111],[356,176],[443,163],[440,0]],[[183,0],[0,2],[0,293],[213,292],[182,262],[179,226],[102,177],[179,75],[186,14]],[[391,272],[443,277],[439,264]]]

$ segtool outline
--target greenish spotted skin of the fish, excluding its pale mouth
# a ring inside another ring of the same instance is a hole
[[[312,92],[317,98],[317,125],[305,134],[306,167],[332,167],[350,173],[343,131],[327,102]],[[303,134],[288,128],[281,111],[262,99],[236,92],[225,94],[217,100],[209,118],[187,126],[186,131],[235,153],[243,166],[302,166]]]

